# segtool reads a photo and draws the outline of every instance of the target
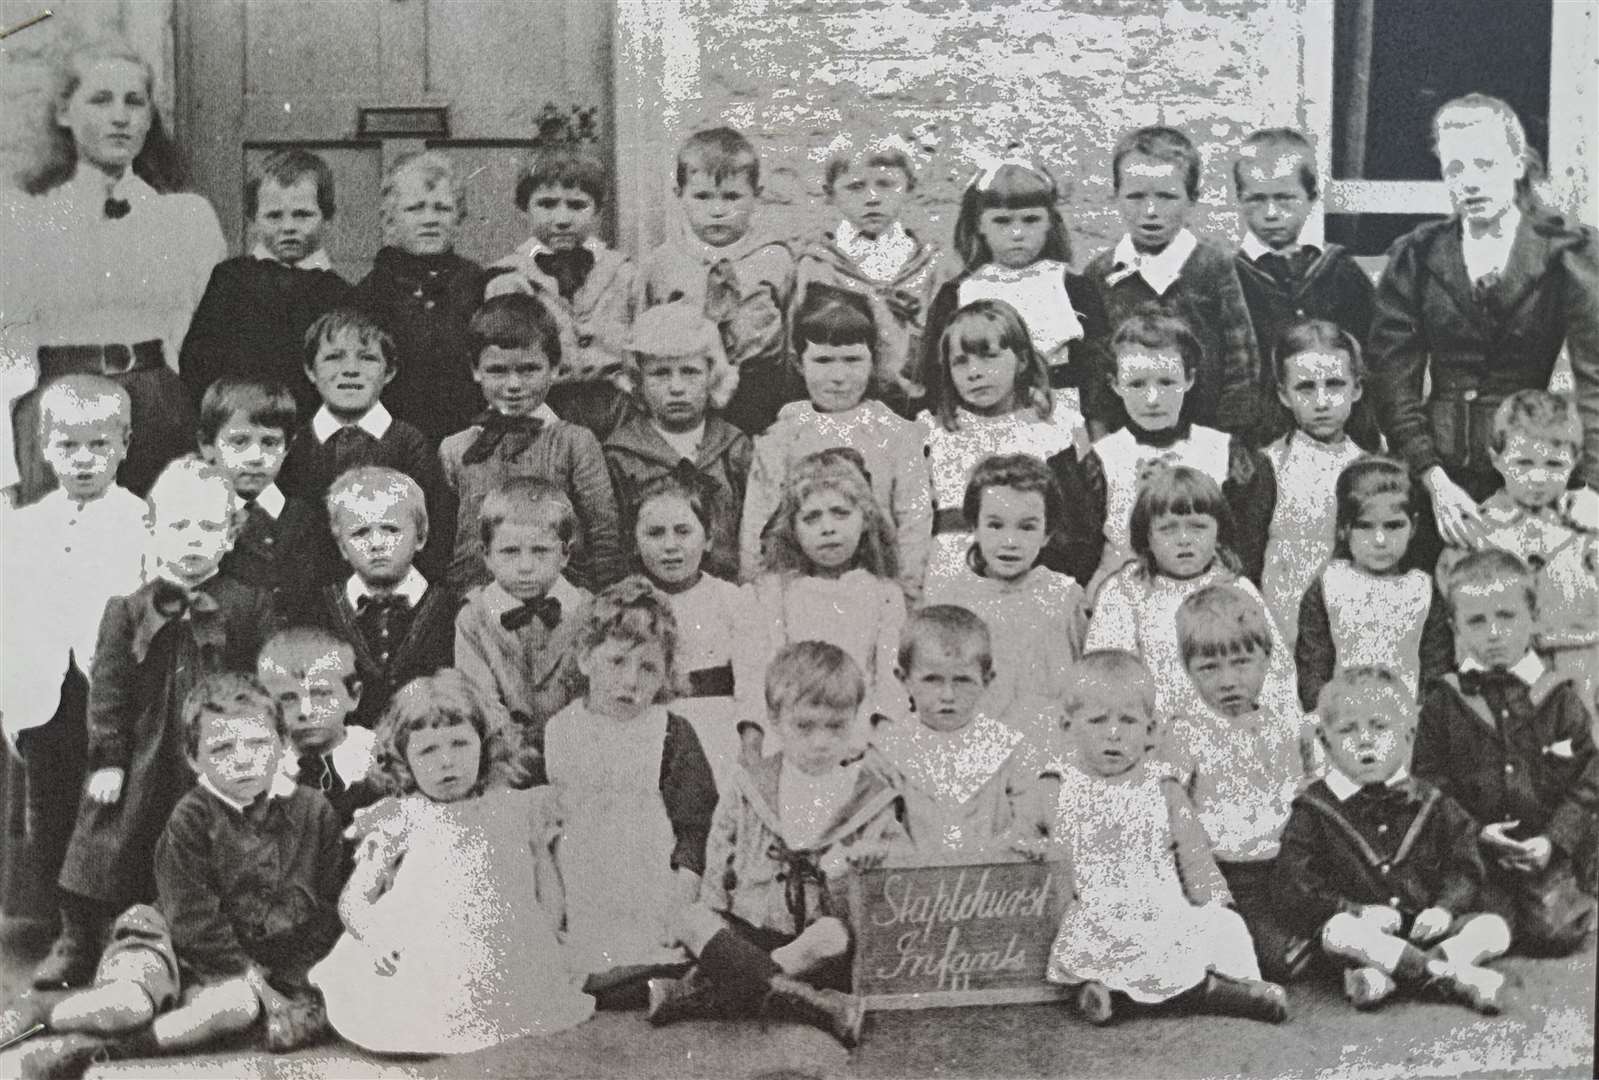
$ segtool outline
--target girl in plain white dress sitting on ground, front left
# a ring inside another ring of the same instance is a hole
[[[438,1054],[588,1019],[529,851],[547,789],[512,790],[513,771],[505,731],[461,672],[395,694],[373,776],[398,800],[360,840],[345,934],[310,971],[342,1037]]]

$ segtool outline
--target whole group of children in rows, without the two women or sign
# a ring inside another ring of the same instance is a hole
[[[1238,253],[1185,226],[1199,166],[1126,136],[1076,274],[1001,162],[951,275],[903,146],[839,141],[790,245],[718,128],[636,266],[556,152],[484,270],[422,154],[350,288],[326,165],[270,155],[182,349],[198,453],[117,486],[94,374],[21,434],[59,491],[6,510],[0,720],[61,933],[0,1042],[448,1053],[598,1003],[854,1045],[841,885],[884,859],[1068,858],[1047,979],[1095,1024],[1279,1022],[1324,960],[1362,1008],[1503,1008],[1485,962],[1594,918],[1580,422],[1506,398],[1487,542],[1418,566],[1308,142],[1241,147]]]

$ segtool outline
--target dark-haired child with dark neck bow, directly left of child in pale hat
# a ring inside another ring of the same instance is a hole
[[[544,408],[561,363],[555,317],[532,296],[510,293],[472,315],[472,378],[488,410],[438,448],[445,480],[461,499],[449,579],[457,589],[486,584],[478,528],[483,499],[507,480],[548,480],[577,510],[572,579],[600,589],[622,574],[616,494],[593,432]]]

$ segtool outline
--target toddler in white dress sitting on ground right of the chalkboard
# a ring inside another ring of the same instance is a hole
[[[1287,995],[1260,981],[1193,803],[1145,766],[1158,715],[1150,670],[1121,650],[1086,654],[1065,715],[1071,757],[1049,826],[1071,850],[1075,894],[1049,981],[1076,987],[1091,1024],[1111,1022],[1129,998],[1281,1024]]]

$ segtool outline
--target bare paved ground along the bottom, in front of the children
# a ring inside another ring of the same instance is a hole
[[[34,939],[0,938],[0,995],[40,955]],[[1089,1027],[1060,1006],[873,1013],[865,1045],[844,1053],[790,1024],[691,1022],[652,1029],[638,1013],[606,1013],[542,1040],[459,1058],[379,1059],[349,1046],[283,1058],[227,1054],[101,1066],[118,1080],[366,1080],[379,1077],[1586,1077],[1594,1059],[1594,950],[1569,960],[1505,960],[1517,982],[1505,1016],[1399,1002],[1350,1010],[1330,986],[1294,986],[1281,1027],[1161,1016]],[[0,1054],[0,1077],[16,1075]]]

